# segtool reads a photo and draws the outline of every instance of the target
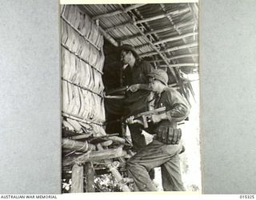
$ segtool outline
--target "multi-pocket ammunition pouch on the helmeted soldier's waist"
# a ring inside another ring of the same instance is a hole
[[[172,127],[158,127],[156,139],[166,145],[177,145],[182,138],[182,130]]]

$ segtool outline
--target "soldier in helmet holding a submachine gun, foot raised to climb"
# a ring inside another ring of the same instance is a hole
[[[190,106],[178,91],[167,86],[168,76],[164,70],[154,70],[148,76],[156,96],[154,108],[165,106],[166,112],[152,115],[147,131],[156,137],[128,160],[127,170],[138,190],[157,191],[149,171],[161,166],[163,190],[184,191],[179,164],[182,132],[177,122],[188,116]],[[128,122],[134,124],[138,120],[131,117]]]

